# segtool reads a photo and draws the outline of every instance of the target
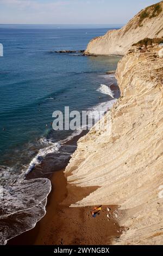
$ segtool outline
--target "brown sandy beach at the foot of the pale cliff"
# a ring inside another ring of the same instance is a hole
[[[67,186],[63,171],[51,178],[52,192],[48,197],[47,213],[36,227],[11,239],[9,245],[107,245],[119,237],[120,227],[111,217],[108,221],[106,206],[96,218],[92,207],[72,208],[70,204],[82,199],[96,188]],[[115,206],[110,206],[110,215]]]

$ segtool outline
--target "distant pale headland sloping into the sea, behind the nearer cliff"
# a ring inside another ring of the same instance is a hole
[[[163,1],[140,11],[121,29],[92,39],[87,55],[125,55],[131,45],[144,38],[163,37]]]

